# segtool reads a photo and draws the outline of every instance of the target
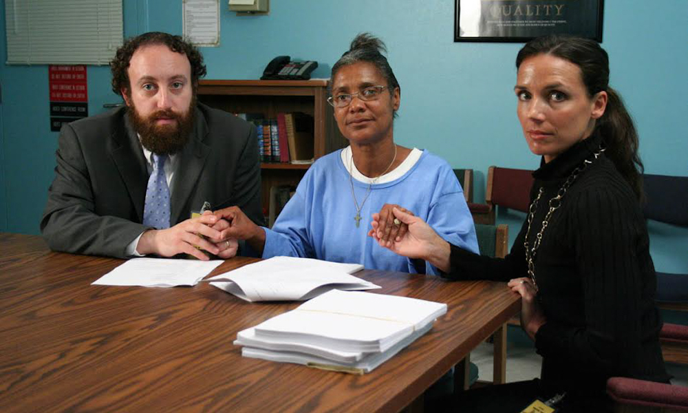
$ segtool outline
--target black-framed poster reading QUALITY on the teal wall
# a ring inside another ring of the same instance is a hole
[[[604,0],[454,1],[455,42],[524,43],[547,34],[602,41]]]

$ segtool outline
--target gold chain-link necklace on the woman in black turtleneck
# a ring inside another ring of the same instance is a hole
[[[533,286],[535,287],[535,290],[537,290],[537,283],[535,282],[535,256],[537,255],[537,248],[539,248],[540,242],[542,242],[542,235],[544,234],[545,229],[550,223],[550,218],[552,218],[552,213],[554,213],[554,211],[557,211],[557,209],[561,207],[561,198],[563,198],[563,195],[566,195],[566,191],[571,186],[573,181],[576,180],[576,178],[578,178],[581,172],[585,171],[585,169],[588,168],[588,165],[592,164],[592,161],[599,158],[600,153],[604,151],[605,149],[600,145],[599,149],[592,154],[591,158],[594,159],[583,160],[583,165],[580,165],[579,167],[574,169],[573,172],[571,172],[568,178],[566,178],[566,182],[564,182],[563,185],[561,185],[561,188],[559,188],[559,191],[557,191],[557,195],[554,198],[550,199],[550,209],[549,211],[547,211],[544,220],[542,220],[542,226],[540,228],[540,231],[535,235],[535,242],[533,242],[533,248],[530,248],[528,244],[528,236],[530,235],[530,225],[533,223],[535,211],[537,211],[537,202],[540,200],[540,197],[544,192],[544,187],[540,187],[540,190],[537,193],[537,197],[535,198],[535,200],[533,200],[533,203],[530,204],[530,208],[528,209],[528,229],[526,230],[526,238],[523,242],[523,246],[526,248],[526,263],[528,264],[528,275],[530,276],[530,279],[533,280]]]

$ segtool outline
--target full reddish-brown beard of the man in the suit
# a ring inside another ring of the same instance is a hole
[[[189,134],[195,120],[195,94],[191,98],[191,104],[189,105],[189,110],[186,111],[186,115],[166,109],[153,112],[153,114],[144,118],[138,114],[136,107],[133,105],[133,100],[130,99],[130,102],[131,105],[127,110],[127,114],[144,148],[158,155],[173,155],[184,148],[186,141],[189,140]],[[156,120],[160,118],[174,119],[176,122],[169,125],[157,125]]]

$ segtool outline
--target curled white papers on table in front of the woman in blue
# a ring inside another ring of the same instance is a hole
[[[272,257],[203,281],[246,301],[301,301],[335,288],[380,288],[372,282],[351,275],[361,269],[361,264]]]

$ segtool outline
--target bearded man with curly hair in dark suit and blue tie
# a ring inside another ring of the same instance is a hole
[[[110,63],[126,105],[63,126],[41,232],[54,251],[138,257],[237,253],[212,213],[262,224],[256,129],[196,102],[203,57],[180,36],[129,39]],[[203,237],[201,236],[203,235]]]

